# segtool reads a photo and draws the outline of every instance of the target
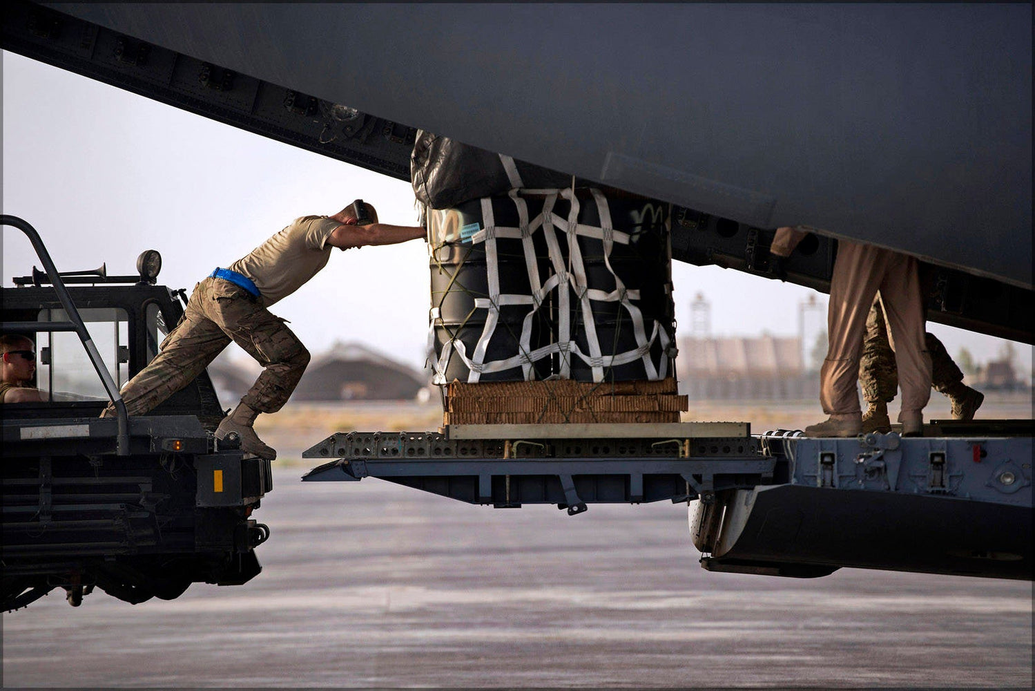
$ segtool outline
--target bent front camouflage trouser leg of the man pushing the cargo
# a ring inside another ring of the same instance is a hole
[[[232,283],[205,279],[195,294],[205,316],[264,368],[241,403],[259,412],[279,410],[302,378],[309,351],[284,319]]]

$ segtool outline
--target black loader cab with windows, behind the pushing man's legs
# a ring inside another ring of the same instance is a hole
[[[147,280],[141,276],[82,273],[64,277],[64,282],[105,368],[121,388],[158,353],[161,341],[183,316],[185,298],[181,297],[182,291],[153,283],[154,277]],[[49,323],[68,320],[54,288],[47,285],[46,276],[38,270],[13,282],[16,287],[3,288],[0,321],[5,324],[5,333],[25,336],[35,344],[33,385],[48,400],[5,403],[4,416],[99,415],[108,405],[108,395],[78,335],[48,328]],[[211,379],[202,372],[148,414],[193,414],[206,428],[214,429],[223,409]]]

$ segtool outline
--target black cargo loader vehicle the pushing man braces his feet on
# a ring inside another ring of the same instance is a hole
[[[127,418],[118,393],[183,315],[183,292],[155,283],[160,256],[143,253],[137,276],[61,275],[32,226],[0,223],[45,266],[2,289],[0,328],[35,343],[48,399],[0,404],[3,611],[55,588],[76,606],[95,588],[137,604],[254,578],[270,464],[216,442],[224,412],[208,375],[147,415]],[[99,418],[109,402],[118,416]]]

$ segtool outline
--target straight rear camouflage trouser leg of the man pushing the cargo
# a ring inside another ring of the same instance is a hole
[[[230,337],[197,306],[190,295],[183,319],[161,342],[154,359],[122,387],[122,401],[130,415],[143,415],[180,391],[230,345]],[[109,404],[106,415],[114,415]]]

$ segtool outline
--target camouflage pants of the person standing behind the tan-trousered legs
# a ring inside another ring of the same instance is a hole
[[[927,350],[930,352],[930,385],[937,392],[944,392],[964,379],[964,373],[952,362],[942,342],[930,333],[924,334]],[[895,353],[888,341],[888,329],[880,300],[866,317],[866,334],[862,341],[862,356],[859,358],[859,383],[862,398],[867,403],[890,402],[898,390],[898,371],[895,369]]]

